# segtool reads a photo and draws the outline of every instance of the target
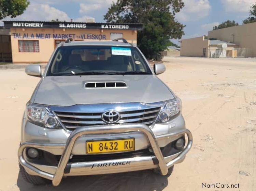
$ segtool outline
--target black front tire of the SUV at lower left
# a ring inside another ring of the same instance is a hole
[[[41,176],[34,176],[34,175],[28,174],[26,172],[26,170],[24,169],[24,167],[21,166],[20,164],[19,164],[19,172],[22,175],[22,178],[27,183],[30,183],[30,184],[33,184],[33,185],[46,185],[46,184],[51,183],[51,180],[49,180],[49,179],[43,178]]]

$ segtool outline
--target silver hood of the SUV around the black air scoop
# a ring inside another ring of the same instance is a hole
[[[88,82],[125,82],[127,87],[85,88]],[[97,103],[153,103],[173,99],[168,87],[154,75],[46,76],[34,94],[34,103],[71,106]]]

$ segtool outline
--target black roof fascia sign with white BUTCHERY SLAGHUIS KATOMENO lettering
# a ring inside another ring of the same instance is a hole
[[[60,28],[60,29],[111,29],[111,30],[143,30],[142,24],[136,23],[95,23],[95,22],[45,22],[45,21],[3,21],[9,28]]]

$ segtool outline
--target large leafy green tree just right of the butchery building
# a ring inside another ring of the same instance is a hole
[[[143,23],[137,45],[147,59],[160,60],[169,39],[180,39],[185,25],[175,20],[182,0],[117,0],[104,15],[107,22]]]

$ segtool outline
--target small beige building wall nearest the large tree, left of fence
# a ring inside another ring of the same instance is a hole
[[[208,55],[209,40],[204,40],[204,36],[196,38],[188,38],[181,40],[181,56],[202,57],[203,48],[206,49],[206,57]]]

